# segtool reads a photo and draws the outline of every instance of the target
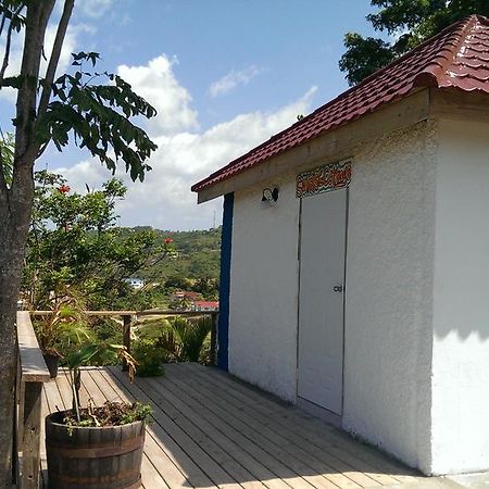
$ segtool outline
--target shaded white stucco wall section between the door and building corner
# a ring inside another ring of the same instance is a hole
[[[355,153],[350,186],[343,427],[430,467],[436,125]]]

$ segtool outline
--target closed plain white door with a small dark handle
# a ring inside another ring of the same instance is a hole
[[[347,189],[302,199],[298,396],[341,414]]]

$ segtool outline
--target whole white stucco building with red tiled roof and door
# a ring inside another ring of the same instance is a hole
[[[489,469],[489,21],[196,184],[218,364],[425,474]]]

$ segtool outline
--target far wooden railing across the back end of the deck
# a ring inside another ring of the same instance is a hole
[[[52,311],[33,311],[33,316],[46,316],[52,314]],[[172,311],[172,310],[149,310],[149,311],[86,311],[89,316],[109,316],[121,317],[123,319],[123,344],[130,352],[130,327],[139,317],[168,317],[168,316],[185,316],[185,317],[198,317],[198,316],[211,316],[211,352],[210,363],[215,365],[216,350],[217,350],[217,321],[218,311]]]

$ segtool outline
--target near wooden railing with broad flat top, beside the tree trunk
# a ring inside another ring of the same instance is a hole
[[[20,489],[39,487],[42,383],[49,371],[27,311],[17,312],[18,367],[15,389],[15,473]]]

